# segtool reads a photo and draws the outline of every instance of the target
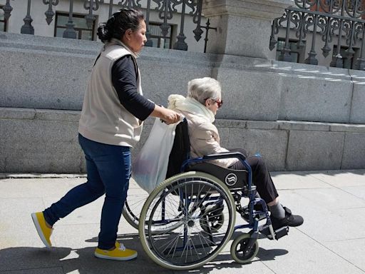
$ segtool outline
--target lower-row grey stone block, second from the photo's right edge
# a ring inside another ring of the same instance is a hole
[[[323,131],[290,131],[288,171],[319,171],[341,168],[344,134]]]

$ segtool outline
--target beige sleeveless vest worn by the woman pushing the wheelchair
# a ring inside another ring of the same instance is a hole
[[[130,147],[140,141],[143,122],[122,106],[111,79],[114,62],[128,54],[133,56],[119,43],[106,44],[101,51],[101,56],[91,71],[78,125],[78,132],[85,138]],[[142,95],[139,70],[137,91]]]

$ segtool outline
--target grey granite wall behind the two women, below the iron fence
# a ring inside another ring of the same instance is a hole
[[[100,48],[0,32],[0,172],[84,172],[78,117]],[[364,71],[151,48],[138,64],[145,96],[165,106],[190,79],[217,78],[222,145],[260,152],[271,170],[365,168]]]

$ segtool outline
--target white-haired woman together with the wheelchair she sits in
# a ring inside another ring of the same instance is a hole
[[[233,240],[230,253],[238,263],[249,263],[259,250],[259,233],[278,240],[289,226],[303,223],[279,203],[261,157],[220,146],[213,122],[221,106],[220,83],[213,78],[190,81],[186,98],[169,96],[169,108],[185,120],[175,130],[167,179],[150,193],[139,217],[144,250],[165,268],[200,267],[239,229],[250,231]],[[235,225],[236,212],[247,224]]]

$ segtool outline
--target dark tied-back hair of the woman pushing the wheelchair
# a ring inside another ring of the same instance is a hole
[[[112,38],[120,40],[128,29],[136,31],[140,26],[140,21],[144,19],[142,11],[120,9],[110,16],[106,23],[102,23],[98,27],[98,37],[103,43]]]

